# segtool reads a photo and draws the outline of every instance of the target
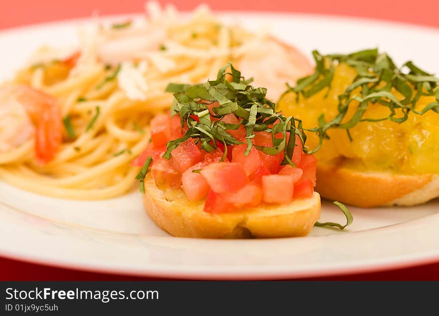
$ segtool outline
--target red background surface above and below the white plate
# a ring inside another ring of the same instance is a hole
[[[160,1],[167,3],[169,1]],[[173,1],[180,9],[192,9],[199,0]],[[381,18],[439,27],[439,1],[393,0],[205,0],[218,10],[290,11]],[[1,0],[0,29],[51,20],[100,14],[138,12],[144,0]],[[7,242],[7,241],[2,241]],[[60,269],[0,258],[0,280],[159,280]],[[407,269],[335,276],[314,280],[439,280],[439,263]]]

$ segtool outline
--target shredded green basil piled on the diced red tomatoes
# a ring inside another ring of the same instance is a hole
[[[226,69],[230,67],[230,73]],[[226,79],[226,74],[231,76],[231,81]],[[217,148],[217,143],[228,145],[247,144],[245,155],[248,155],[251,147],[255,147],[269,155],[277,155],[284,152],[285,159],[282,164],[290,164],[295,150],[295,137],[287,137],[287,132],[297,135],[302,144],[305,144],[306,136],[302,129],[302,122],[294,117],[285,117],[275,111],[275,104],[265,98],[265,88],[255,88],[250,85],[252,79],[246,80],[241,73],[228,63],[222,67],[216,80],[210,80],[203,84],[168,85],[166,91],[174,92],[176,101],[171,109],[171,115],[180,116],[181,125],[187,124],[188,131],[183,137],[172,140],[167,144],[167,151],[163,157],[169,159],[171,151],[188,138],[200,142],[201,148],[207,152]],[[200,102],[200,100],[204,102]],[[233,113],[240,120],[239,124],[228,124],[221,120],[211,120],[209,104],[218,102],[213,108],[215,118],[221,119],[229,113]],[[194,117],[197,116],[198,120]],[[236,130],[243,126],[246,131],[245,141],[234,138],[227,130]],[[252,143],[254,132],[265,131],[271,133],[273,147],[257,146]],[[279,136],[282,135],[282,136]],[[281,138],[280,138],[281,137]],[[303,145],[304,146],[304,145]],[[301,148],[305,149],[305,147]],[[299,149],[297,149],[299,150]]]

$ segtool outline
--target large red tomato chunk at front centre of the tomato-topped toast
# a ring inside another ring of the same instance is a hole
[[[235,162],[217,162],[203,168],[201,174],[216,193],[235,192],[248,183],[241,165]]]

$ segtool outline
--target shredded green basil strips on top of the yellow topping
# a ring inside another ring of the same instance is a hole
[[[357,76],[346,88],[344,93],[338,96],[338,115],[330,121],[326,121],[324,113],[318,119],[318,127],[306,129],[315,132],[319,136],[319,145],[308,153],[317,151],[324,138],[328,138],[327,130],[330,128],[345,129],[351,139],[349,129],[359,122],[377,122],[391,120],[396,123],[403,123],[408,119],[408,114],[413,112],[422,115],[427,111],[439,113],[439,78],[415,66],[412,61],[406,62],[398,68],[393,60],[386,53],[379,53],[378,49],[366,49],[351,54],[321,55],[317,50],[312,52],[316,62],[313,74],[297,80],[295,87],[288,86],[285,92],[294,92],[297,98],[303,96],[308,98],[323,89],[330,89],[334,77],[335,66],[338,63],[346,63],[357,71]],[[359,92],[354,93],[357,88]],[[394,91],[404,96],[399,99]],[[359,95],[358,95],[358,94]],[[416,109],[416,103],[421,96],[436,96],[436,102],[429,103],[422,110]],[[352,101],[358,101],[357,111],[352,118],[341,123]],[[364,118],[369,104],[380,104],[389,108],[390,114],[378,119]],[[395,109],[401,109],[397,117]],[[352,139],[351,139],[352,140]]]

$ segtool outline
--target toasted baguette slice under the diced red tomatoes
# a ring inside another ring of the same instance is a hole
[[[274,238],[306,236],[320,218],[320,196],[290,205],[262,204],[239,212],[210,214],[204,201],[190,202],[182,190],[158,188],[148,174],[144,205],[151,219],[176,237]]]

